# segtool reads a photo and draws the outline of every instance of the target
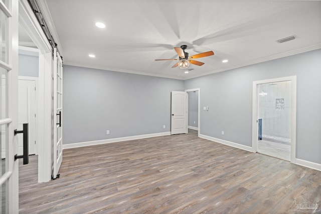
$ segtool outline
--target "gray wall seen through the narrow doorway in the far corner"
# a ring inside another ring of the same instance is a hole
[[[187,93],[189,95],[189,126],[199,127],[199,91]]]

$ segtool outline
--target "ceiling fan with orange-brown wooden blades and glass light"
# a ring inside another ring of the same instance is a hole
[[[176,68],[177,66],[181,69],[188,68],[190,66],[190,63],[193,65],[202,66],[204,63],[196,61],[194,59],[202,58],[202,57],[208,57],[214,55],[213,51],[208,51],[200,54],[193,55],[189,57],[189,53],[185,52],[185,49],[187,49],[187,45],[182,45],[181,48],[175,47],[174,48],[176,53],[179,55],[179,59],[160,59],[155,61],[162,61],[162,60],[179,60],[178,63],[176,63],[172,68]]]

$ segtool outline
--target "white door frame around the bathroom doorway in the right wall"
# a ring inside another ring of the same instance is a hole
[[[253,81],[252,103],[252,151],[257,152],[258,142],[258,116],[257,116],[257,85],[291,81],[291,151],[290,162],[295,163],[296,154],[296,76]]]

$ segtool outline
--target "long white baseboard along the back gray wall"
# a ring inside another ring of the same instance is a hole
[[[94,141],[79,142],[79,143],[69,143],[69,144],[63,144],[63,149],[83,147],[83,146],[92,146],[92,145],[98,145],[98,144],[104,144],[104,143],[115,143],[115,142],[126,141],[126,140],[137,140],[137,139],[158,137],[158,136],[165,136],[165,135],[171,135],[171,132],[161,132],[161,133],[154,133],[154,134],[143,134],[143,135],[136,135],[136,136],[119,137],[119,138],[112,138],[112,139],[105,139],[105,140],[94,140]]]

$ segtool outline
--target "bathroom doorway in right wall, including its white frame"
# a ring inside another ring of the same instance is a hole
[[[254,152],[294,162],[296,77],[253,82]]]

